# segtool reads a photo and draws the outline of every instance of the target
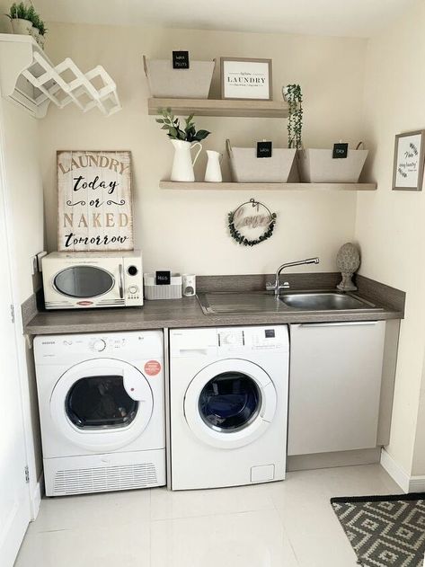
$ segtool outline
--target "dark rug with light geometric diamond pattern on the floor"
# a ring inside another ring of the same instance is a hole
[[[332,498],[332,508],[364,567],[421,567],[425,493]]]

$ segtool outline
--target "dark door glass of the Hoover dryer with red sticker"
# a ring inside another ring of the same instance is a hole
[[[126,427],[138,402],[127,394],[122,376],[81,378],[66,395],[66,414],[82,430]]]

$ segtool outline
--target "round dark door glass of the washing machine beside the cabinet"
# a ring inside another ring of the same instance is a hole
[[[218,374],[199,394],[199,414],[214,430],[242,430],[255,420],[260,409],[260,388],[242,372]]]

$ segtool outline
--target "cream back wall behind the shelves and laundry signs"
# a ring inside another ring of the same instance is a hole
[[[56,151],[118,148],[133,153],[136,244],[144,252],[146,270],[259,273],[275,270],[281,261],[312,255],[321,257],[320,270],[334,270],[338,248],[354,234],[355,193],[158,189],[159,180],[169,177],[173,151],[154,117],[146,113],[142,54],[169,58],[172,49],[179,48],[190,49],[199,59],[272,58],[276,99],[283,84],[303,85],[306,145],[359,140],[365,40],[49,24],[49,56],[55,62],[71,57],[84,70],[105,66],[118,84],[123,105],[108,119],[95,110],[82,114],[68,107],[50,108],[40,121],[49,250],[57,245]],[[217,93],[218,74],[214,82]],[[197,124],[212,132],[205,147],[220,151],[226,137],[234,145],[250,145],[263,137],[287,144],[286,120],[201,117]],[[198,175],[204,170],[203,155]],[[227,235],[226,214],[251,197],[264,200],[279,217],[270,241],[247,250]]]

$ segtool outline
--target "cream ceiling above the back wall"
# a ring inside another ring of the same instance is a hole
[[[32,0],[47,22],[370,37],[422,0]]]

